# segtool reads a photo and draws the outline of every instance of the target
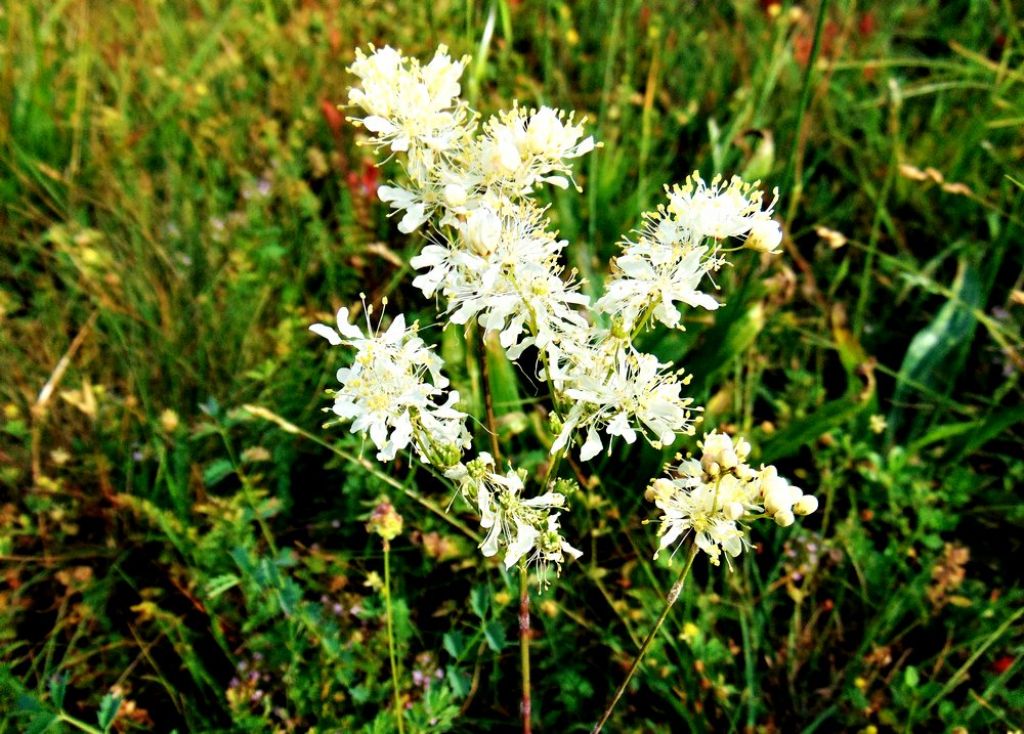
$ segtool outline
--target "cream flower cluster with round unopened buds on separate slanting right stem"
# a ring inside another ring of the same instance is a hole
[[[647,490],[647,499],[664,513],[658,552],[692,531],[697,548],[718,565],[722,551],[728,560],[749,545],[746,525],[753,520],[771,517],[785,527],[796,515],[817,510],[817,499],[790,484],[775,467],[749,466],[751,445],[742,438],[708,433],[701,448],[699,460],[681,462],[671,478],[655,479]]]

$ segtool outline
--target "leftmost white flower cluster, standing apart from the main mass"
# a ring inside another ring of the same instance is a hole
[[[456,409],[459,392],[447,391],[443,362],[422,339],[417,325],[406,327],[399,314],[387,331],[368,333],[348,321],[348,309],[338,310],[337,329],[314,323],[309,330],[332,345],[355,350],[352,365],[338,371],[340,389],[332,411],[351,421],[353,433],[366,433],[377,446],[377,458],[391,461],[412,444],[424,461],[460,452],[470,443],[466,414]]]

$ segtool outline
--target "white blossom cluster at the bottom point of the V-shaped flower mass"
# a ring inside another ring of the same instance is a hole
[[[586,432],[580,458],[597,456],[601,433],[633,443],[642,434],[655,447],[671,444],[680,433],[693,433],[692,398],[681,394],[689,378],[653,354],[637,351],[628,342],[608,338],[596,349],[572,355],[559,379],[573,405],[565,417],[552,452],[561,450],[574,435]]]

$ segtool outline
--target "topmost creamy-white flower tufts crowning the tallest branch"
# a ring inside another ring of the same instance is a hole
[[[401,214],[412,232],[433,217],[450,225],[482,200],[517,201],[544,183],[565,188],[569,162],[594,148],[584,121],[541,107],[514,106],[478,129],[479,116],[459,97],[467,58],[440,46],[426,66],[385,46],[358,50],[349,71],[359,85],[348,101],[370,143],[400,154],[409,180],[380,186],[381,201]]]

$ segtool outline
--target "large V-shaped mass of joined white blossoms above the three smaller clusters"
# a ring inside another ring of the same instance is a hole
[[[383,48],[359,52],[351,68],[361,89],[349,100],[366,113],[360,122],[370,143],[403,154],[407,180],[381,187],[381,199],[403,213],[402,231],[431,220],[439,234],[413,258],[420,271],[414,285],[428,298],[442,297],[453,323],[498,333],[511,359],[539,350],[539,377],[564,411],[553,452],[578,444],[587,460],[604,448],[602,435],[632,443],[640,434],[667,445],[692,433],[695,408],[680,393],[684,381],[622,332],[650,313],[676,326],[679,303],[717,307],[698,290],[724,262],[717,245],[702,244],[714,223],[708,212],[717,207],[738,236],[767,220],[770,209],[761,211],[760,195],[738,181],[708,187],[691,178],[673,189],[668,207],[627,245],[618,275],[596,304],[615,316],[617,332],[600,329],[585,316],[590,299],[562,265],[565,241],[547,229],[545,211],[529,199],[544,183],[567,186],[569,162],[592,150],[593,138],[550,107],[516,105],[479,126],[479,116],[458,98],[464,63],[443,47],[425,67]],[[740,220],[751,222],[744,231]]]

